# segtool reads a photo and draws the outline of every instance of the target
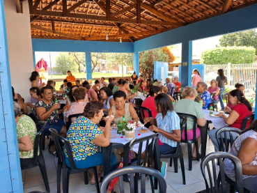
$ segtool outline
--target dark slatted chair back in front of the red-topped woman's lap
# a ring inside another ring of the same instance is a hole
[[[241,130],[238,130],[236,128],[221,128],[220,130],[217,130],[215,135],[219,144],[219,151],[228,152],[229,146],[230,148],[232,147],[235,141],[232,135],[233,132],[237,132],[238,134],[240,134]],[[224,147],[224,144],[225,144],[225,147]]]

